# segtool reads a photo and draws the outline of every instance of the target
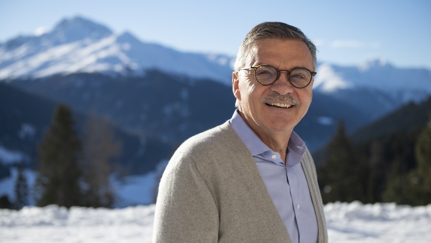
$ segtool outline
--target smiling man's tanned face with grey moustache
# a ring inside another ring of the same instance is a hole
[[[299,67],[313,70],[310,50],[299,40],[258,40],[250,53],[246,67],[269,64],[277,70],[291,71]],[[234,73],[232,82],[241,116],[261,138],[279,132],[290,134],[307,113],[313,97],[313,81],[305,88],[295,88],[283,71],[267,86],[256,81],[253,69]]]

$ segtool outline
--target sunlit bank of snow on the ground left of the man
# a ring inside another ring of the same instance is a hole
[[[25,207],[0,210],[0,242],[151,242],[154,205],[121,209]]]

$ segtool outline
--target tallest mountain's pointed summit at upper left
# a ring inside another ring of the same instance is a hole
[[[61,42],[70,42],[85,38],[98,40],[112,34],[112,31],[107,27],[80,16],[63,19],[49,33],[49,35],[56,37]]]

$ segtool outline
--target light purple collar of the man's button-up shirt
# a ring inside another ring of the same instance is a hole
[[[266,151],[272,151],[264,142],[262,142],[256,133],[247,125],[247,123],[245,123],[245,121],[239,115],[237,109],[230,120],[230,124],[232,128],[234,128],[238,137],[248,148],[252,156],[262,154]],[[301,156],[303,156],[307,150],[304,141],[294,131],[292,131],[292,134],[290,135],[287,148],[289,153],[294,152]]]

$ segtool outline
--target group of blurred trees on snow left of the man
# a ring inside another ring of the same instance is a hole
[[[29,204],[32,191],[38,206],[111,207],[115,200],[110,181],[114,170],[111,162],[120,152],[121,143],[115,140],[113,127],[106,119],[90,114],[80,138],[71,109],[60,104],[38,147],[34,188],[28,188],[23,166],[19,164],[15,200],[7,202],[2,198],[0,203],[3,207],[20,209]]]

